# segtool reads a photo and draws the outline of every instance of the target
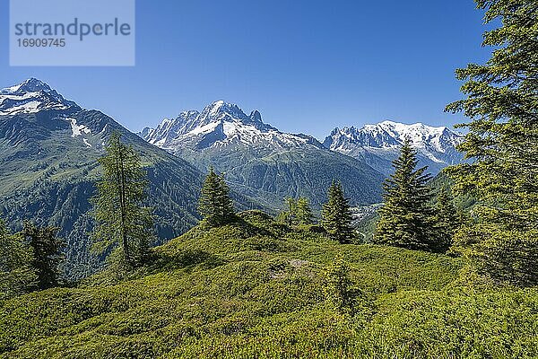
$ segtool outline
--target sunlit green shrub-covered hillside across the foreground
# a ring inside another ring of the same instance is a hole
[[[538,292],[455,285],[458,259],[337,245],[256,212],[195,228],[129,278],[0,303],[1,358],[535,357]],[[337,252],[369,296],[354,318],[324,300]],[[256,355],[256,356],[255,356]]]

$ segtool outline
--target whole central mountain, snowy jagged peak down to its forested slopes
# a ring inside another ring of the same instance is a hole
[[[283,133],[257,110],[247,115],[224,101],[182,112],[139,136],[202,171],[213,166],[226,172],[232,188],[265,206],[303,196],[320,207],[333,180],[342,181],[355,204],[380,200],[383,176],[365,162],[330,151],[312,136]]]

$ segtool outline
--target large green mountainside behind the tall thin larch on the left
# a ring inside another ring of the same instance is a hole
[[[60,227],[70,278],[100,266],[89,254],[88,200],[100,171],[97,159],[114,130],[142,156],[161,241],[185,232],[196,223],[200,171],[100,111],[66,101],[39,80],[0,91],[0,215],[15,230],[25,219]]]

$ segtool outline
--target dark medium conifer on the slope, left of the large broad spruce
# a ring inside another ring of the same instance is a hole
[[[352,215],[349,199],[344,197],[342,184],[333,182],[328,190],[328,201],[321,214],[325,232],[334,241],[351,243],[355,237],[351,225]]]

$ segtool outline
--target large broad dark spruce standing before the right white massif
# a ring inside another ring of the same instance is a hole
[[[436,250],[432,223],[432,197],[427,183],[427,167],[416,169],[418,160],[407,139],[400,156],[393,162],[395,169],[384,183],[384,204],[379,208],[379,220],[373,241],[409,250]]]

